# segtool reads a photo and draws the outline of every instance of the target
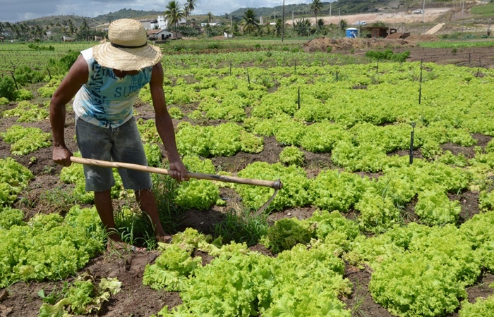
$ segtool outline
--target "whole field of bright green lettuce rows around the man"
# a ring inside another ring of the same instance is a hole
[[[188,169],[284,187],[255,218],[274,189],[153,175],[163,245],[115,170],[119,233],[143,252],[107,250],[82,166],[51,160],[61,78],[0,99],[0,316],[494,316],[494,70],[362,61],[164,56]],[[150,102],[135,118],[166,168]]]

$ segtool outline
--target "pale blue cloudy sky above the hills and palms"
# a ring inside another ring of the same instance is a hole
[[[178,0],[183,6],[185,0]],[[310,4],[312,0],[285,0],[284,4]],[[20,22],[49,15],[79,15],[94,18],[97,15],[127,8],[144,11],[164,11],[169,0],[0,0],[0,21]],[[283,0],[196,0],[194,14],[212,12],[224,15],[239,8],[281,6]]]

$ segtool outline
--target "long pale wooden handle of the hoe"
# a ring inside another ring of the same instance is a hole
[[[143,166],[139,164],[132,163],[121,163],[121,162],[109,162],[94,159],[83,159],[80,157],[71,156],[71,161],[73,163],[80,163],[92,166],[102,166],[108,168],[128,168],[130,170],[140,170],[147,173],[164,174],[169,175],[169,170],[165,168],[155,168],[150,166]],[[264,186],[271,187],[274,189],[281,189],[283,184],[281,180],[255,180],[251,178],[237,178],[234,176],[224,176],[216,174],[203,174],[203,173],[187,173],[188,178],[196,178],[198,180],[217,180],[218,182],[234,182],[236,184],[244,185],[254,185],[254,186]]]

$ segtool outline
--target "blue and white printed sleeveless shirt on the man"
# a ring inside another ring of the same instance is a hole
[[[88,123],[117,128],[133,116],[133,105],[140,89],[151,80],[152,66],[136,75],[116,76],[112,68],[101,66],[92,56],[92,48],[80,52],[88,63],[88,82],[73,102],[76,116]]]

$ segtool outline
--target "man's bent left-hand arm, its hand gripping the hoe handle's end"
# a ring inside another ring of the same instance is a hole
[[[88,63],[85,62],[83,56],[79,56],[50,101],[49,120],[52,124],[54,146],[52,156],[55,163],[63,166],[71,165],[71,156],[73,155],[65,144],[65,106],[76,96],[80,87],[88,82],[88,76]]]

